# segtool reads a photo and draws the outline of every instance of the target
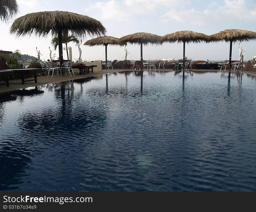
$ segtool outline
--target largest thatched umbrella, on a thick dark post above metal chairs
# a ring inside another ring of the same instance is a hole
[[[32,34],[45,37],[51,32],[52,37],[58,35],[59,58],[63,64],[62,31],[69,30],[77,37],[89,35],[105,35],[106,29],[101,22],[67,11],[34,12],[17,18],[10,28],[11,34],[17,37]]]

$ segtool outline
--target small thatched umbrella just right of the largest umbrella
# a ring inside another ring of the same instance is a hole
[[[111,36],[101,36],[97,38],[90,39],[86,41],[83,45],[88,45],[88,46],[100,46],[104,45],[105,46],[105,52],[106,52],[106,69],[107,69],[107,46],[108,45],[121,45],[118,43],[118,38],[116,37],[111,37]]]

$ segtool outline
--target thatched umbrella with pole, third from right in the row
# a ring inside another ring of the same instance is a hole
[[[142,44],[161,44],[162,37],[151,33],[134,33],[119,38],[120,44],[141,44],[141,63],[143,63]]]

